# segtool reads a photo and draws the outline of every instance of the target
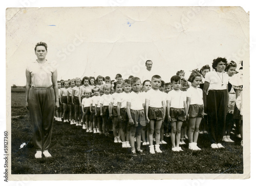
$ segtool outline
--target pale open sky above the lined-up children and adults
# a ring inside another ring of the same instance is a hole
[[[217,57],[249,64],[249,15],[241,7],[73,7],[7,9],[10,84],[26,84],[34,46],[48,44],[58,79],[139,76],[145,61],[168,82],[178,70]]]

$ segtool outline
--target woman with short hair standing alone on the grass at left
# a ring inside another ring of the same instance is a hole
[[[35,158],[51,157],[48,148],[51,142],[54,110],[59,107],[56,64],[46,60],[47,44],[35,46],[37,60],[26,69],[26,108],[33,126]]]

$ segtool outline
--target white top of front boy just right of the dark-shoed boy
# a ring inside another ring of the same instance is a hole
[[[150,89],[149,91],[147,91],[145,93],[145,99],[148,99],[150,101],[150,104],[148,106],[154,108],[162,108],[162,101],[165,101],[164,94],[159,89]]]

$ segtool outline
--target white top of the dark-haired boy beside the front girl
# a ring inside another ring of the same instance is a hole
[[[170,101],[170,108],[183,109],[184,101],[187,100],[186,92],[171,90],[168,92],[167,100]]]

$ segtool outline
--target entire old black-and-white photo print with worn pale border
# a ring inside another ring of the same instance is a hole
[[[249,178],[249,12],[112,3],[6,9],[9,179]]]

